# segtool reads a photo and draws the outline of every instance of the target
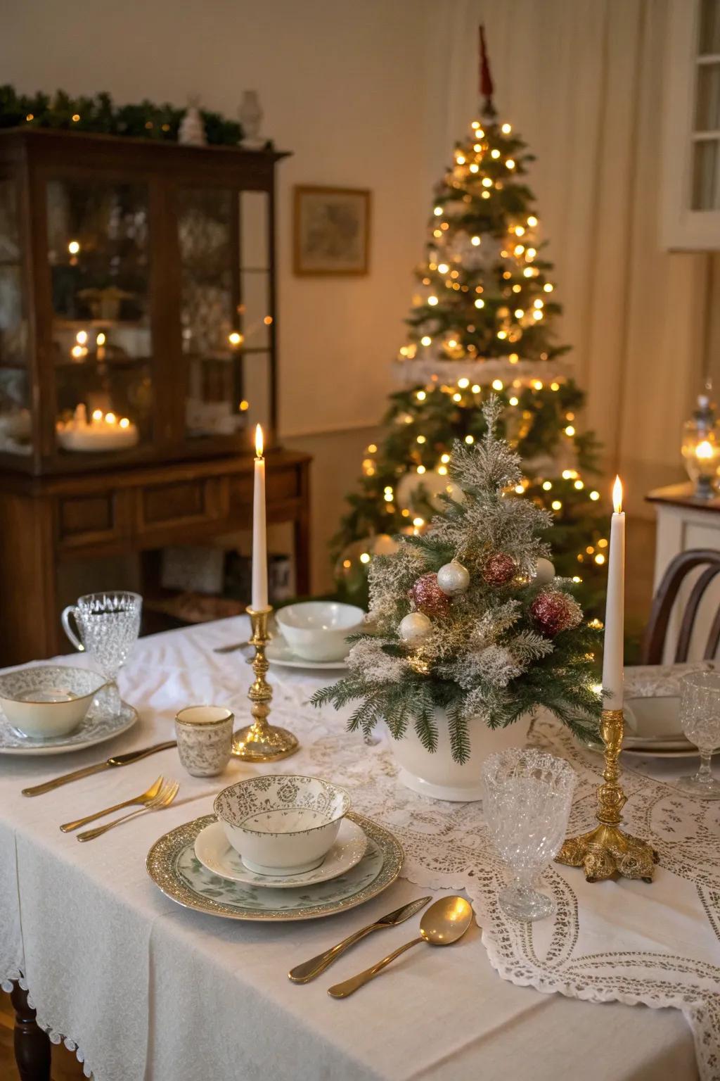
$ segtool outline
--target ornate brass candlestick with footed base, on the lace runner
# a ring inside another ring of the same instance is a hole
[[[599,826],[581,837],[569,838],[558,854],[558,864],[583,867],[588,882],[612,878],[617,872],[624,878],[640,878],[652,882],[657,853],[647,841],[639,841],[620,829],[627,796],[620,787],[617,759],[623,748],[622,709],[603,709],[600,735],[604,744],[604,784],[598,788],[600,808]]]

